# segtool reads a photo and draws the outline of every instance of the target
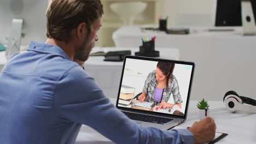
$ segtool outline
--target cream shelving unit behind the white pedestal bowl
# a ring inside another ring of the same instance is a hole
[[[102,0],[104,15],[102,17],[102,27],[98,32],[99,40],[96,46],[114,46],[112,33],[123,26],[123,21],[115,14],[109,5],[115,2],[139,2],[139,0]],[[134,25],[158,25],[159,16],[162,15],[162,0],[142,0],[147,3],[147,8],[136,16]]]

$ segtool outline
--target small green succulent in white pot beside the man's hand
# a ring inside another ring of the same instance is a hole
[[[197,108],[198,108],[198,117],[199,119],[203,119],[205,117],[210,116],[210,110],[207,101],[203,98],[201,101],[198,101],[197,103]]]

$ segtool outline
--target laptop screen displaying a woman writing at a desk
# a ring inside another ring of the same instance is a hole
[[[126,56],[117,107],[187,117],[194,63]]]

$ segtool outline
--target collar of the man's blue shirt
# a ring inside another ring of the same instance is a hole
[[[27,51],[43,52],[43,53],[55,53],[61,55],[62,57],[69,59],[67,53],[64,52],[61,47],[51,44],[38,43],[37,41],[31,40],[30,45],[27,48]]]

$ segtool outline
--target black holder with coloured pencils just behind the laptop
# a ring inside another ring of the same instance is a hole
[[[139,46],[139,52],[135,52],[135,56],[159,57],[159,51],[155,51],[155,41],[150,40]]]

